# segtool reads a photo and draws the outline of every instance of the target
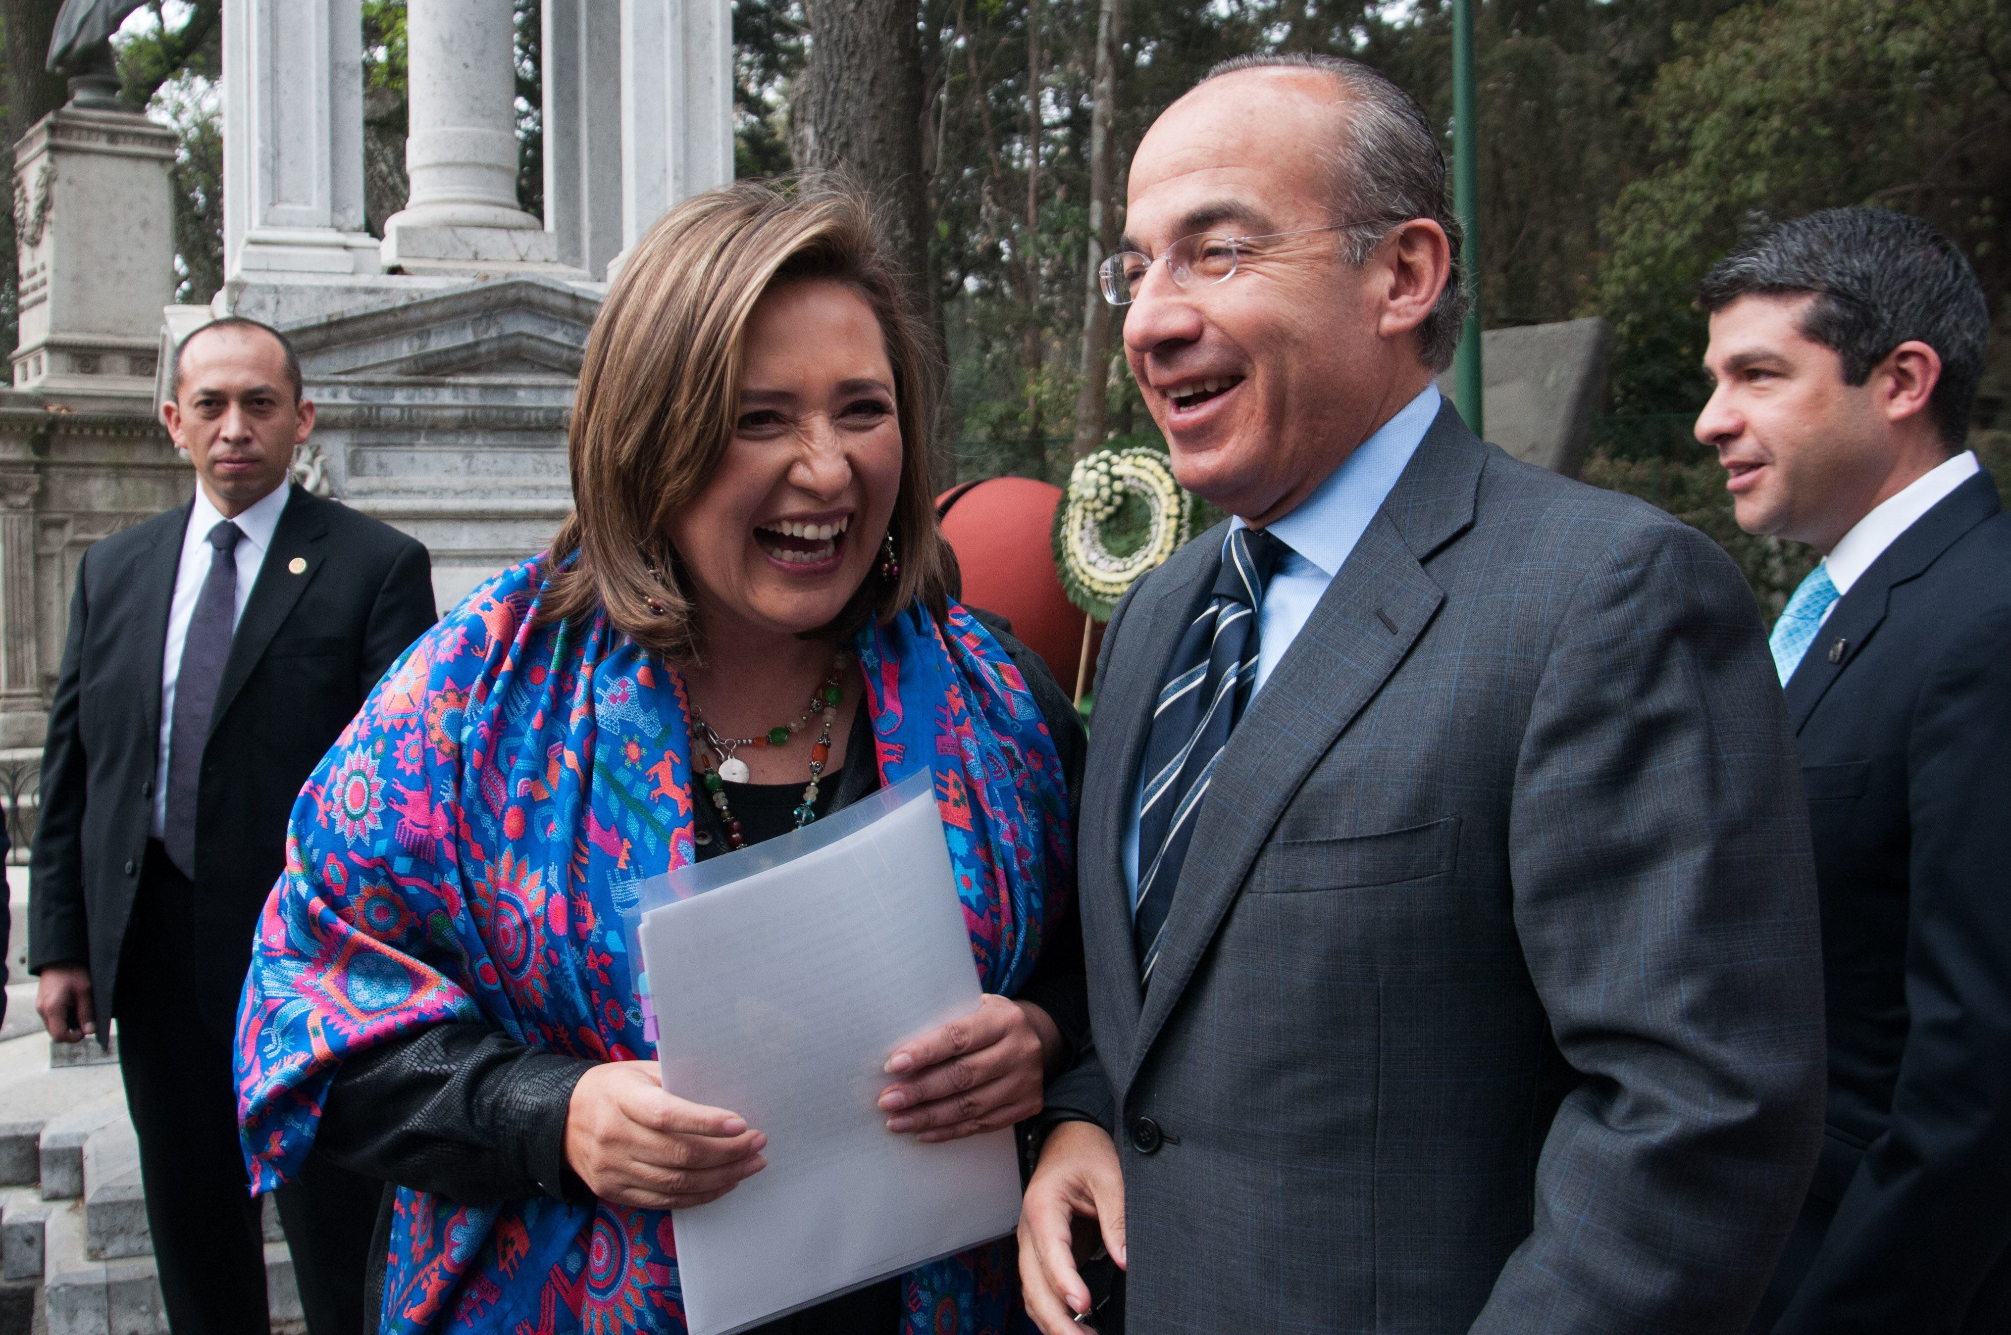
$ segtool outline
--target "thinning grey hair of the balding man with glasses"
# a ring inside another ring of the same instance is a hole
[[[1428,217],[1444,229],[1452,247],[1452,273],[1432,314],[1418,326],[1418,338],[1426,364],[1434,372],[1446,370],[1452,366],[1452,352],[1460,346],[1466,312],[1474,300],[1466,288],[1466,265],[1460,263],[1466,229],[1460,227],[1446,197],[1446,155],[1438,151],[1438,137],[1424,109],[1390,78],[1345,56],[1305,52],[1235,56],[1211,68],[1201,82],[1263,68],[1329,74],[1347,103],[1339,141],[1327,155],[1333,169],[1335,221],[1359,221],[1341,233],[1341,253],[1347,263],[1365,261],[1398,223],[1414,217]]]

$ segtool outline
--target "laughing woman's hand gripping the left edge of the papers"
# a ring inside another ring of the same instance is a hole
[[[656,1062],[607,1062],[573,1086],[565,1162],[601,1200],[688,1210],[768,1166],[768,1138],[724,1108],[666,1094]]]

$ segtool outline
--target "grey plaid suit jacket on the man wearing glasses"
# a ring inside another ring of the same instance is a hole
[[[1080,836],[1128,1331],[1742,1331],[1822,1136],[1794,740],[1703,535],[1448,406],[1237,726],[1140,997],[1120,834],[1223,529],[1112,615]]]

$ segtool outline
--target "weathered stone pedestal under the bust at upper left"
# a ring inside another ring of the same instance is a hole
[[[153,330],[175,294],[175,133],[64,107],[14,149],[20,346],[14,388],[151,402]]]

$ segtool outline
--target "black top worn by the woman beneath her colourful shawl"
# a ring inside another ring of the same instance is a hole
[[[1088,752],[1082,718],[1046,661],[1010,633],[1008,621],[981,611],[975,615],[1034,692],[1062,760],[1068,816],[1074,824]],[[820,816],[843,810],[881,786],[867,710],[857,712],[845,764],[831,778],[837,782],[818,790]],[[802,802],[802,784],[728,784],[726,800],[752,844],[796,828],[792,812]],[[726,830],[714,804],[698,802],[696,810],[700,861],[726,852]],[[1088,1045],[1090,1029],[1082,927],[1074,899],[1056,919],[1040,961],[1018,995],[1048,1011],[1062,1031],[1064,1066],[1074,1064]],[[432,1025],[344,1062],[322,1108],[314,1144],[344,1168],[442,1196],[456,1206],[525,1196],[587,1204],[593,1192],[565,1164],[565,1118],[573,1086],[593,1066],[597,1064],[587,1058],[525,1047],[481,1021]],[[366,1311],[382,1309],[390,1204],[392,1192],[386,1190],[378,1236],[370,1249]],[[897,1317],[885,1299],[887,1285],[875,1285],[762,1331],[782,1335],[798,1329],[792,1323],[810,1321],[800,1329],[820,1335],[847,1335],[851,1329],[889,1335]]]

